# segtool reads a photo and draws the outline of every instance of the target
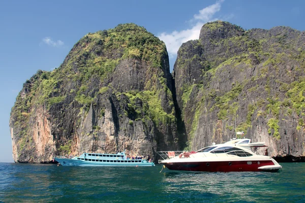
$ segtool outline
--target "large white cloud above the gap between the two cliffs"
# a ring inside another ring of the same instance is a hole
[[[177,55],[177,51],[182,43],[199,38],[200,29],[204,23],[218,20],[218,18],[215,18],[214,15],[220,11],[221,4],[223,2],[224,0],[220,0],[213,5],[199,10],[199,13],[195,14],[193,19],[189,21],[192,24],[191,28],[180,31],[175,30],[171,33],[162,32],[158,36],[166,44],[170,58]],[[230,17],[233,17],[232,15],[230,14]]]

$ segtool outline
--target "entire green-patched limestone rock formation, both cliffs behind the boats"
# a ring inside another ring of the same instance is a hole
[[[202,26],[169,72],[165,44],[143,27],[88,33],[63,64],[27,80],[12,108],[13,158],[197,150],[235,138],[305,159],[305,32]],[[262,149],[263,150],[263,149]],[[262,153],[258,149],[258,153]]]

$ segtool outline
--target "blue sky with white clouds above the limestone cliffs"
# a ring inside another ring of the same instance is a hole
[[[0,162],[13,162],[9,119],[23,83],[58,67],[88,32],[135,23],[163,40],[170,71],[180,45],[202,25],[224,20],[244,29],[284,25],[305,30],[305,1],[1,1]]]

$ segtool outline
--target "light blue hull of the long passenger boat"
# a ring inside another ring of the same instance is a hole
[[[65,159],[55,158],[55,160],[63,166],[155,166],[153,162],[147,162],[142,160],[141,162],[96,162],[96,161],[84,161],[77,159]]]

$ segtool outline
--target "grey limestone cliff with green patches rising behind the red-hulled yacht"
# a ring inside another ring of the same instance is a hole
[[[189,149],[230,140],[236,122],[247,138],[264,141],[269,155],[304,160],[304,49],[305,32],[290,27],[204,24],[174,66]]]

